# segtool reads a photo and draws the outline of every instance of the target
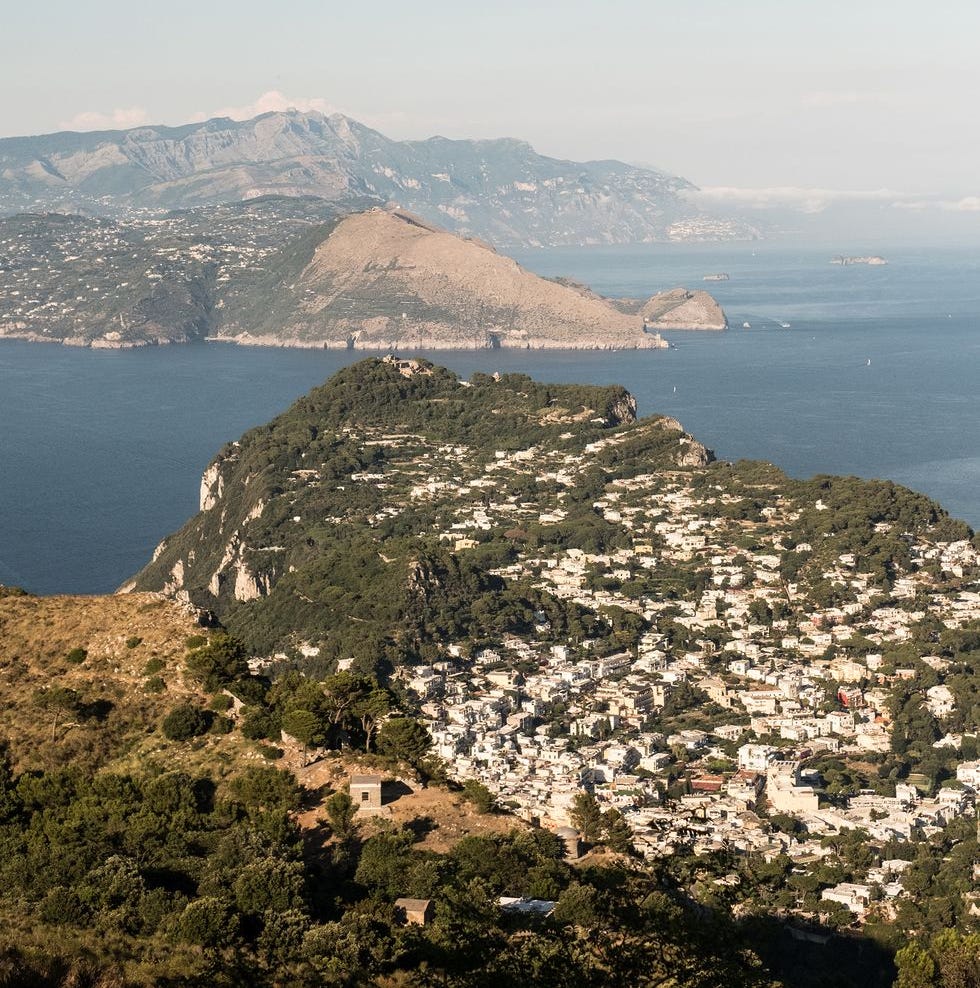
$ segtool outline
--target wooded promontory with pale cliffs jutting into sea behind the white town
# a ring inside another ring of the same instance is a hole
[[[369,358],[221,450],[201,479],[200,512],[121,589],[162,592],[268,643],[314,640],[336,620],[369,634],[364,622],[379,611],[355,584],[384,588],[385,607],[410,615],[410,575],[437,567],[422,544],[474,547],[468,535],[484,531],[482,520],[453,527],[461,505],[482,519],[490,502],[505,503],[501,532],[513,528],[503,537],[518,542],[545,518],[591,531],[601,527],[590,493],[598,464],[628,464],[632,475],[713,458],[676,419],[638,420],[620,386],[464,381],[424,360]],[[515,465],[561,480],[525,490]],[[352,574],[343,588],[342,571]],[[499,589],[474,579],[480,592]]]

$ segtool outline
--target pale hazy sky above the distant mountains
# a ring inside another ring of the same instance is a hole
[[[980,225],[974,0],[9,6],[0,136],[295,106],[653,165],[746,209]]]

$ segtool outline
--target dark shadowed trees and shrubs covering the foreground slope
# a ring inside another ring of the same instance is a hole
[[[129,626],[144,630],[138,620]],[[236,735],[278,739],[281,726],[304,744],[376,746],[392,768],[401,761],[438,770],[414,719],[396,716],[378,729],[396,698],[373,680],[341,673],[316,682],[290,672],[270,684],[244,672],[240,645],[223,633],[189,636],[184,645],[189,680],[207,684],[215,700],[226,687],[247,699]],[[426,820],[365,831],[343,790],[304,792],[290,773],[254,760],[239,756],[220,776],[175,769],[220,716],[200,701],[178,703],[160,724],[171,747],[133,771],[17,771],[0,748],[0,984],[890,981],[889,931],[881,931],[882,946],[844,937],[807,947],[767,914],[800,891],[785,859],[680,851],[649,866],[624,856],[571,867],[555,837],[526,829],[466,837],[436,853],[420,846]],[[211,757],[220,750],[211,748]],[[463,796],[495,812],[482,787],[470,784]],[[303,830],[296,812],[314,801],[322,816]],[[583,798],[575,817],[587,840],[628,852],[628,828],[615,811],[599,813]],[[842,848],[866,853],[856,836]],[[924,889],[951,880],[953,865],[931,867],[941,852],[920,855]],[[968,866],[972,855],[959,846],[952,859]],[[733,870],[754,892],[737,924],[729,910],[741,897],[717,883]],[[549,917],[521,916],[501,909],[500,896],[556,905]],[[406,926],[394,906],[402,897],[431,899],[431,921]],[[971,944],[957,941],[959,954],[931,968],[928,957],[900,954],[899,967],[945,979],[914,984],[968,985],[952,978],[968,968]]]

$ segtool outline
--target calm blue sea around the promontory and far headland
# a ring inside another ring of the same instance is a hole
[[[832,265],[835,252],[889,264]],[[622,383],[641,414],[676,416],[720,458],[890,478],[980,526],[977,252],[658,245],[518,260],[607,295],[703,287],[731,328],[668,334],[669,350],[425,356],[463,375]],[[720,272],[729,280],[702,282]],[[114,589],[197,510],[200,474],[223,443],[368,355],[0,342],[0,583]]]

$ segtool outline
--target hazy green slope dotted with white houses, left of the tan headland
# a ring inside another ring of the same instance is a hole
[[[273,198],[119,220],[0,218],[0,338],[112,348],[137,325],[171,320],[176,331],[196,286],[257,268],[329,215],[323,204]]]

